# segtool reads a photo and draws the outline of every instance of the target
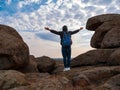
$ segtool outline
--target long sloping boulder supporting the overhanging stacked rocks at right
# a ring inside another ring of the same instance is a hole
[[[80,54],[73,58],[71,67],[87,66],[87,65],[120,65],[120,48],[116,49],[96,49]]]

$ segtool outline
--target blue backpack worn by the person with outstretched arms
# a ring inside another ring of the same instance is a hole
[[[70,46],[72,44],[71,35],[69,32],[63,32],[62,46]]]

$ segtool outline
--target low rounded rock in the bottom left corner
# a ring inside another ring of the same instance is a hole
[[[25,75],[15,70],[0,70],[0,89],[8,90],[28,85]]]

